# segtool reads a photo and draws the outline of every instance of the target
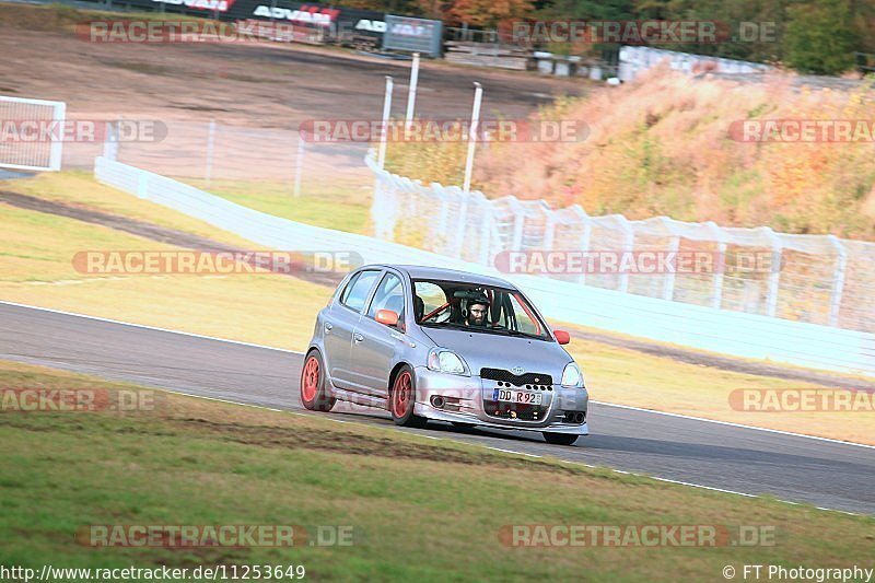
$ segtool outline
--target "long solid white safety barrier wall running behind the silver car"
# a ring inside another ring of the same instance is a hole
[[[542,277],[506,276],[474,261],[280,219],[105,156],[95,161],[94,173],[102,183],[267,247],[347,250],[360,254],[365,263],[429,265],[504,277],[520,285],[553,320],[737,357],[875,376],[873,334],[670,302]]]

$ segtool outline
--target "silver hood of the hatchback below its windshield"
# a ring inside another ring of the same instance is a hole
[[[434,343],[465,359],[471,374],[479,375],[482,368],[510,371],[514,366],[522,366],[525,372],[550,374],[553,382],[558,383],[565,364],[571,362],[568,352],[553,341],[460,329],[421,329]]]

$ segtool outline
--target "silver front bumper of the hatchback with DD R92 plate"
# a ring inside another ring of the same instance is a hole
[[[497,401],[493,400],[494,390],[500,387],[495,381],[480,378],[479,376],[459,376],[432,371],[425,366],[416,369],[417,398],[413,412],[435,421],[450,421],[455,423],[470,423],[495,429],[513,429],[523,431],[537,431],[549,433],[565,433],[572,435],[588,435],[590,430],[585,419],[590,397],[585,388],[563,387],[561,385],[545,385],[540,389],[521,386],[510,387],[523,393],[540,393],[541,406],[529,407],[528,415],[537,409],[534,415],[538,419],[520,419],[490,415],[495,411]],[[443,404],[440,400],[443,400]],[[441,406],[436,406],[441,405]],[[504,412],[523,405],[501,405]],[[569,416],[583,413],[583,420],[570,422]],[[515,411],[511,412],[515,415]],[[521,415],[525,415],[521,411]]]

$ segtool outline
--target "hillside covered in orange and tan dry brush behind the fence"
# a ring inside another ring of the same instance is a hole
[[[590,214],[875,240],[875,79],[833,81],[817,88],[785,74],[754,82],[654,70],[540,113],[584,121],[584,140],[481,148],[475,187],[490,198],[579,203]],[[855,133],[830,143],[750,142],[739,131],[745,120],[851,120]],[[389,150],[394,172],[460,182],[462,144]]]

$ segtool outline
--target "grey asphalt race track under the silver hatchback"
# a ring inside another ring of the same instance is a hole
[[[0,359],[191,395],[301,409],[300,353],[0,303]],[[585,362],[582,363],[585,366]],[[315,413],[395,428],[385,411]],[[413,431],[664,479],[875,514],[875,448],[593,404],[573,447],[430,423]]]

